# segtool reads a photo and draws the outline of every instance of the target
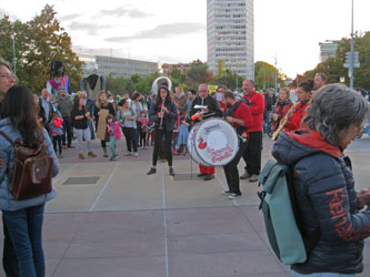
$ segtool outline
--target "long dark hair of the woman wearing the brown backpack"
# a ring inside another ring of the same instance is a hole
[[[1,117],[9,117],[11,125],[18,130],[23,143],[33,147],[43,141],[42,125],[38,120],[37,105],[31,91],[23,85],[9,89],[1,102]]]

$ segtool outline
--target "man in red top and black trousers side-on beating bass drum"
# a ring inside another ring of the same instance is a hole
[[[248,129],[252,125],[252,114],[250,107],[241,101],[236,99],[236,94],[232,91],[226,91],[223,94],[223,103],[227,106],[224,112],[224,119],[236,130],[240,137],[239,152],[236,157],[227,165],[223,166],[224,175],[228,182],[229,189],[224,191],[224,194],[229,194],[229,199],[236,199],[240,197],[239,185],[239,161],[248,146]]]

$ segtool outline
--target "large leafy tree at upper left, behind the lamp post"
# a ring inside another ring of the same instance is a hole
[[[27,23],[10,22],[8,17],[0,21],[0,54],[8,61],[12,59],[10,33],[14,31],[17,75],[33,92],[46,88],[47,80],[50,79],[50,64],[56,60],[64,63],[72,91],[79,89],[82,62],[71,50],[71,38],[60,27],[56,14],[53,8],[47,4],[40,16]]]

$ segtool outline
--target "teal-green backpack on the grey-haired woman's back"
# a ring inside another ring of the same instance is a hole
[[[311,238],[303,238],[301,235],[292,167],[270,160],[258,177],[263,185],[258,195],[261,198],[260,209],[270,246],[278,259],[286,265],[304,263],[320,237],[319,228]]]

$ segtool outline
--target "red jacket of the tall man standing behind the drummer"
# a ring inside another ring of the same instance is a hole
[[[248,132],[262,132],[262,125],[263,125],[263,111],[264,111],[264,99],[262,94],[257,93],[256,91],[252,91],[248,95],[244,94],[244,99],[248,100],[251,103],[251,106],[249,106],[253,123],[248,129]]]

